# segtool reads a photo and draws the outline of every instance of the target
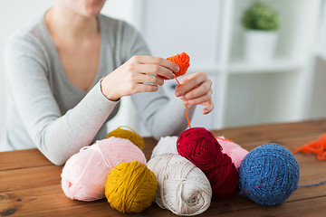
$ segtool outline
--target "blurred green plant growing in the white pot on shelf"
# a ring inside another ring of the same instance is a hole
[[[254,2],[245,10],[241,23],[247,29],[276,30],[280,27],[280,18],[270,5]]]

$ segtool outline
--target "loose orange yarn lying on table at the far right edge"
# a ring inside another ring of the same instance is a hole
[[[297,152],[313,153],[317,155],[319,160],[326,160],[326,134],[322,134],[321,137],[311,143],[305,144],[301,147],[294,146],[295,150],[293,154]]]

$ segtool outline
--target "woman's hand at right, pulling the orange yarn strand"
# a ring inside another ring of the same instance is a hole
[[[208,114],[214,109],[212,101],[212,81],[204,72],[197,72],[185,76],[180,80],[181,86],[177,85],[176,96],[182,99],[182,103],[187,106],[204,105],[203,114]]]

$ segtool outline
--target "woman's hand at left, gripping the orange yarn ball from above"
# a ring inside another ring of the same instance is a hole
[[[159,57],[133,56],[101,80],[101,91],[107,99],[118,100],[139,92],[155,92],[164,80],[174,79],[176,63]]]

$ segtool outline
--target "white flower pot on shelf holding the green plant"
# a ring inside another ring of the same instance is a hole
[[[245,61],[250,63],[273,61],[277,38],[277,31],[246,30]]]

